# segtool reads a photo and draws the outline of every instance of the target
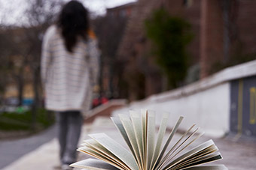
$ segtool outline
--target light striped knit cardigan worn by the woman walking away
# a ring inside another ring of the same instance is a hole
[[[96,39],[78,38],[73,52],[68,52],[56,25],[44,34],[41,53],[41,79],[45,106],[52,111],[90,109],[93,85],[99,70]]]

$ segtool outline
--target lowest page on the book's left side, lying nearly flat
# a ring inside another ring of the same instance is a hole
[[[102,160],[95,160],[91,158],[87,160],[81,160],[77,163],[72,163],[70,166],[74,168],[80,168],[80,169],[117,170],[116,167],[111,166]]]

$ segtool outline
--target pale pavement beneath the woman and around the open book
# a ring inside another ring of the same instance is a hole
[[[111,123],[110,119],[97,118],[93,124],[84,125],[81,135],[81,142],[87,139],[90,133],[107,133],[108,136],[124,145],[123,139]],[[179,136],[179,135],[178,135]],[[176,138],[178,138],[176,136]],[[208,137],[202,137],[198,142],[205,142]],[[256,167],[256,142],[255,140],[242,139],[234,142],[233,137],[224,139],[213,139],[221,151],[224,160],[215,164],[224,164],[229,170],[255,170]],[[80,142],[80,143],[81,143]],[[88,157],[86,154],[79,154],[78,160]],[[11,165],[2,170],[54,170],[58,169],[58,145],[56,139],[45,143],[35,151],[26,154]],[[77,169],[74,169],[77,170]]]

